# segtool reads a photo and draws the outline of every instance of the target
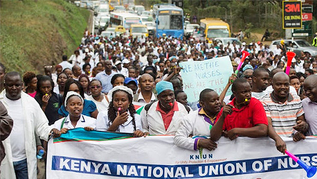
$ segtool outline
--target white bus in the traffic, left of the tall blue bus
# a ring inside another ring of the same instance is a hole
[[[126,30],[130,29],[131,24],[142,24],[142,19],[139,15],[128,12],[111,12],[110,24],[112,27],[122,25]]]

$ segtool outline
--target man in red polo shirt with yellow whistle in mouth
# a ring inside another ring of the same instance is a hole
[[[210,130],[211,140],[217,141],[222,131],[231,140],[240,136],[262,137],[268,135],[268,119],[262,103],[251,97],[251,86],[245,78],[232,84],[233,100],[225,105]]]

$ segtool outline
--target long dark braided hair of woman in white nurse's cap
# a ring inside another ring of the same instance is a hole
[[[130,115],[131,115],[131,117],[132,117],[132,124],[133,124],[134,131],[135,131],[135,130],[136,130],[136,124],[135,124],[134,114],[136,113],[136,111],[135,111],[134,105],[133,105],[133,103],[132,103],[132,101],[133,101],[133,96],[132,96],[130,93],[128,93],[127,91],[125,91],[125,90],[118,89],[118,90],[113,91],[113,93],[112,93],[112,100],[113,100],[114,94],[115,94],[116,92],[119,92],[119,91],[123,91],[123,92],[125,92],[125,93],[128,95],[128,100],[129,100],[129,103],[130,103],[130,104],[129,104],[129,107],[128,107],[128,110],[129,110]],[[109,123],[108,123],[108,125],[109,125],[109,126],[110,126],[111,123],[114,121],[114,119],[116,118],[116,116],[117,116],[117,111],[116,111],[116,109],[114,108],[113,102],[110,101],[110,102],[109,102],[109,107],[108,107],[108,118],[109,118]],[[110,123],[110,122],[111,122],[111,123]],[[119,126],[118,126],[118,128],[117,128],[116,131],[118,131],[118,132],[120,131]]]

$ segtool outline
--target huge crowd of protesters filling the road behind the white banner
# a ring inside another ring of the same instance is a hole
[[[229,55],[234,72],[243,50],[250,55],[221,94],[206,88],[198,101],[187,101],[180,62]],[[271,50],[260,41],[85,33],[74,54],[44,66],[44,74],[21,75],[0,64],[1,178],[36,178],[36,153],[49,136],[76,127],[171,134],[193,150],[216,149],[221,136],[269,136],[284,153],[281,136],[299,141],[317,134],[317,59],[302,52],[286,74],[286,51],[283,42]],[[133,102],[144,103],[140,114]]]

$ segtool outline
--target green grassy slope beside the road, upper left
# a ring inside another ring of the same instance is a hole
[[[63,0],[1,1],[0,62],[21,73],[59,63],[80,43],[89,14]]]

